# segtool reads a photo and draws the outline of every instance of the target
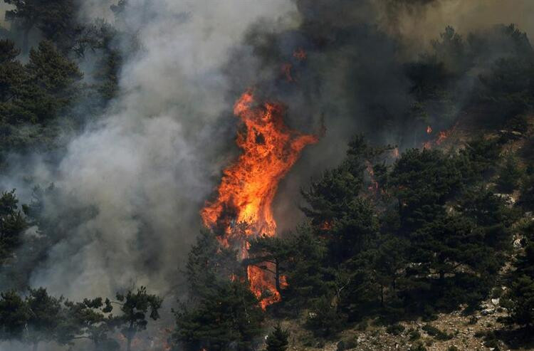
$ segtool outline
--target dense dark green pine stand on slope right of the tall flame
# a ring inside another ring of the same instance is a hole
[[[494,140],[459,152],[407,150],[392,167],[367,161],[380,150],[357,139],[342,166],[304,192],[310,226],[276,239],[285,248],[284,304],[308,310],[315,335],[366,315],[394,323],[474,306],[510,248],[516,211],[483,187],[500,157]],[[371,167],[380,170],[379,194],[364,187]]]

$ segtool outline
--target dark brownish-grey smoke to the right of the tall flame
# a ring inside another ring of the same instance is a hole
[[[302,217],[297,206],[300,187],[320,177],[325,168],[339,164],[355,133],[364,133],[376,144],[399,145],[401,150],[420,146],[417,130],[424,135],[426,125],[420,124],[426,122],[417,121],[411,112],[416,101],[407,64],[430,51],[431,39],[439,38],[447,25],[460,29],[456,32],[464,41],[473,31],[473,38],[484,43],[484,48],[466,48],[476,63],[461,66],[463,71],[447,87],[453,97],[446,102],[450,111],[440,113],[439,101],[429,105],[426,118],[441,129],[460,117],[478,75],[518,45],[495,25],[518,19],[514,22],[530,26],[522,20],[526,18],[523,12],[533,14],[527,2],[504,8],[494,1],[466,5],[453,0],[297,0],[295,4],[298,26],[274,33],[276,23],[256,23],[246,36],[251,48],[236,51],[228,68],[241,72],[234,80],[237,91],[244,88],[243,81],[253,82],[266,98],[288,105],[288,120],[295,129],[317,132],[321,125],[326,129],[322,140],[303,152],[281,184],[275,204],[281,230],[292,229]],[[473,17],[477,21],[471,21]],[[303,61],[294,55],[300,49],[306,52]],[[454,57],[451,50],[444,48],[438,59]],[[250,52],[255,60],[248,59]]]

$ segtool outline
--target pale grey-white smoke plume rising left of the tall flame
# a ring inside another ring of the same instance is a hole
[[[102,16],[108,5],[85,9]],[[221,66],[251,23],[294,5],[138,0],[125,11],[120,26],[137,33],[140,50],[122,67],[120,98],[69,143],[57,168],[36,160],[11,173],[55,184],[44,211],[65,235],[33,269],[31,285],[67,298],[134,284],[164,294],[176,283],[234,135]]]

